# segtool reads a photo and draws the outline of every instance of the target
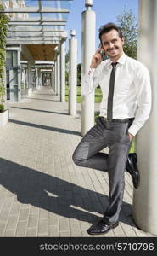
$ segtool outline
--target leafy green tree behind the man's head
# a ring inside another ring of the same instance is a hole
[[[126,55],[137,59],[137,20],[136,16],[132,13],[132,9],[124,8],[121,15],[116,18],[118,26],[125,38],[124,52]]]

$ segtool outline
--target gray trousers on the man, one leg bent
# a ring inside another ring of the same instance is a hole
[[[81,139],[73,160],[77,166],[98,169],[109,173],[109,206],[104,220],[115,223],[119,219],[124,194],[124,172],[131,147],[127,134],[132,121],[126,123],[106,122],[103,117],[96,119],[96,125]],[[102,149],[108,147],[109,154]]]

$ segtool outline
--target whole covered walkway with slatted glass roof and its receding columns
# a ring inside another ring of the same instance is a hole
[[[72,1],[0,0],[0,3],[3,4],[2,13],[9,17],[6,44],[6,100],[20,101],[21,98],[30,95],[32,90],[40,89],[44,85],[43,78],[47,77],[50,79],[48,84],[57,95],[60,95],[61,101],[64,101],[64,45],[68,37],[65,25]],[[37,65],[36,61],[42,61],[41,65]],[[49,65],[48,61],[51,62]],[[56,80],[54,77],[57,69]]]

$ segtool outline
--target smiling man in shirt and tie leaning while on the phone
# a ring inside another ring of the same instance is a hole
[[[96,51],[91,69],[82,81],[82,93],[88,94],[100,85],[100,116],[73,154],[76,165],[109,173],[109,206],[98,224],[87,230],[90,235],[107,233],[119,224],[125,170],[132,174],[137,189],[136,154],[129,157],[129,150],[151,109],[149,72],[123,52],[121,29],[114,23],[104,25],[99,30],[99,39],[109,59],[103,61],[102,49]],[[99,152],[106,147],[109,154]]]

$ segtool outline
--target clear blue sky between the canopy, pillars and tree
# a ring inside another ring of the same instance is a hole
[[[132,9],[133,14],[138,19],[138,0],[93,0],[92,9],[96,13],[96,48],[99,44],[99,27],[108,22],[116,23],[117,15],[121,15],[125,6],[128,10]],[[85,0],[73,0],[67,25],[65,26],[65,30],[69,33],[66,40],[66,51],[68,51],[69,48],[70,30],[76,30],[76,38],[78,40],[78,63],[81,63],[81,13],[85,10]]]

